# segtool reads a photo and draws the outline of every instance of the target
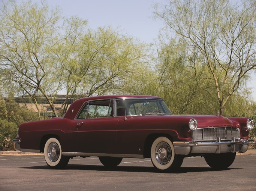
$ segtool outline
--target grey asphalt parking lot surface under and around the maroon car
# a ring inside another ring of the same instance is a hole
[[[203,157],[189,157],[169,173],[157,172],[150,159],[124,158],[109,169],[97,157],[74,157],[65,169],[51,170],[43,155],[0,155],[0,190],[255,191],[256,155],[237,155],[228,169],[219,171]]]

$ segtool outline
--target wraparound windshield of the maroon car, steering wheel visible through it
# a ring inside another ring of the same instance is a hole
[[[117,116],[172,114],[163,100],[124,98],[116,100]]]

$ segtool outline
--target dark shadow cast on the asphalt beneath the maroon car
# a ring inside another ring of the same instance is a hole
[[[45,169],[45,170],[54,170],[50,169],[47,165],[45,166],[30,166],[30,167],[18,167],[21,169]],[[240,168],[227,168],[225,170],[231,169],[240,169]],[[180,167],[179,169],[171,171],[159,171],[155,167],[150,166],[117,166],[117,167],[105,167],[101,165],[67,165],[64,169],[57,170],[94,170],[94,171],[116,171],[116,172],[150,172],[150,173],[188,173],[188,172],[213,172],[213,171],[222,171],[214,170],[211,167]]]

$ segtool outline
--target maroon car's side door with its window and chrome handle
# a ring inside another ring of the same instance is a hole
[[[113,100],[90,101],[76,122],[75,147],[81,153],[114,153],[117,119]]]

